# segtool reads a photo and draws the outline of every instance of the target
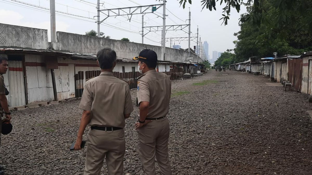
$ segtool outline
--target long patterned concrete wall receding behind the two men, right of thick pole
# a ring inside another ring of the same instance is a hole
[[[162,47],[155,45],[146,45],[121,40],[112,40],[98,38],[96,36],[78,35],[66,32],[56,32],[56,43],[52,43],[55,50],[64,50],[77,53],[94,53],[104,47],[114,49],[118,57],[132,59],[138,56],[143,49],[154,50],[158,55],[158,60],[163,60]],[[189,55],[187,51],[166,48],[166,60],[168,61],[186,61],[187,57],[194,57],[193,62],[202,62],[196,54]]]

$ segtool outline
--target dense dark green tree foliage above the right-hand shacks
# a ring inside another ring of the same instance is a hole
[[[259,13],[252,10],[255,4],[246,6],[241,30],[234,34],[237,62],[257,55],[270,57],[273,52],[300,55],[312,50],[312,1],[261,0],[257,6]]]

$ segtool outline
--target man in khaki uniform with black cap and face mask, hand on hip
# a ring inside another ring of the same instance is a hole
[[[168,75],[156,72],[157,54],[144,49],[138,57],[139,121],[135,124],[138,132],[139,155],[144,175],[155,175],[155,156],[162,175],[171,175],[168,156],[169,110],[171,81]]]

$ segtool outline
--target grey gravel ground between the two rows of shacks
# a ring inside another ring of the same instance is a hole
[[[300,93],[266,83],[260,76],[214,70],[174,81],[168,114],[173,174],[311,173],[312,121],[306,111],[312,104]],[[135,106],[136,91],[131,93]],[[14,130],[1,136],[6,174],[82,174],[86,149],[69,151],[82,113],[78,104],[12,113]],[[142,174],[134,108],[125,127],[127,175]],[[101,174],[107,174],[106,165]]]

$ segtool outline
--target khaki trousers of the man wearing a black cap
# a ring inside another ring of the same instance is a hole
[[[161,175],[171,175],[168,156],[168,118],[152,120],[138,132],[138,147],[144,175],[155,175],[155,156]]]

